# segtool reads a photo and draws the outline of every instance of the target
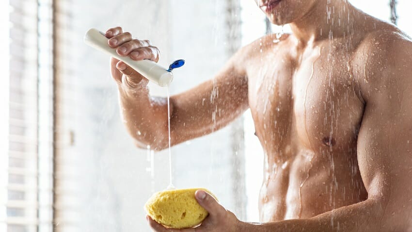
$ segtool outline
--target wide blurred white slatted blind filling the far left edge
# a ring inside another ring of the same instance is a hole
[[[52,171],[45,168],[50,164],[51,154],[43,151],[52,144],[48,136],[52,131],[48,125],[52,111],[46,107],[51,105],[52,98],[39,98],[40,87],[52,87],[40,75],[47,69],[43,61],[51,60],[51,56],[48,57],[51,52],[40,49],[46,38],[40,37],[44,34],[40,30],[51,20],[43,20],[45,12],[39,14],[39,10],[44,10],[42,2],[6,0],[1,3],[0,13],[7,16],[2,18],[7,31],[2,44],[8,44],[8,48],[1,62],[6,70],[4,79],[7,79],[1,90],[7,96],[1,105],[6,112],[1,123],[6,123],[3,124],[6,129],[2,130],[1,137],[5,146],[0,169],[0,230],[7,232],[51,231],[51,217],[45,216],[51,215],[52,208],[48,198],[52,192]],[[51,9],[51,4],[47,8]]]

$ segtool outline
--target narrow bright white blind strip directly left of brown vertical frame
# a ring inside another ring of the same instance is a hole
[[[53,0],[38,0],[38,232],[53,231],[54,29]]]

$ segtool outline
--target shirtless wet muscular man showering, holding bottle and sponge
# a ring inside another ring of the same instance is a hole
[[[410,38],[347,0],[257,5],[272,23],[290,24],[292,34],[256,40],[215,84],[172,96],[171,134],[172,144],[203,136],[216,129],[216,108],[217,128],[250,108],[265,151],[262,223],[241,222],[197,191],[210,213],[200,227],[170,230],[148,217],[149,225],[158,232],[412,231]],[[148,41],[119,27],[106,35],[120,55],[158,61]],[[148,81],[123,62],[111,60],[111,75],[137,145],[167,148],[166,104],[151,99]],[[203,101],[214,85],[219,97]]]

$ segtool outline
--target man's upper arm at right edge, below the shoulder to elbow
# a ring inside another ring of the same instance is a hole
[[[376,200],[388,223],[395,214],[400,222],[412,216],[412,114],[399,110],[368,105],[358,134],[358,163],[368,199]]]

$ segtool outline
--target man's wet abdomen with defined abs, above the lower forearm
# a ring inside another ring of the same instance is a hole
[[[299,154],[283,164],[266,163],[265,170],[272,171],[260,191],[260,220],[309,218],[365,200],[356,157],[329,155],[334,159]]]

